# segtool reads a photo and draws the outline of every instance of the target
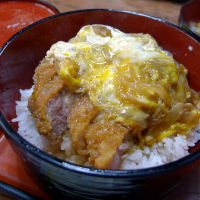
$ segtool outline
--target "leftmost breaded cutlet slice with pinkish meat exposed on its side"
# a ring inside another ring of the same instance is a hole
[[[28,102],[28,109],[37,121],[38,132],[49,138],[60,137],[68,128],[69,107],[76,97],[68,92],[55,64],[43,59],[35,70],[34,90]]]

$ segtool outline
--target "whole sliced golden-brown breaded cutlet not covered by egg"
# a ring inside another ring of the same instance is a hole
[[[87,96],[69,92],[56,67],[44,59],[36,68],[34,91],[28,108],[41,135],[60,138],[66,130],[77,152],[88,157],[91,166],[118,169],[121,145],[128,129],[114,120],[95,120],[98,108]]]

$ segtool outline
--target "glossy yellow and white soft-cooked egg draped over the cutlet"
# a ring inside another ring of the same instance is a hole
[[[121,122],[141,143],[186,135],[199,121],[187,69],[148,34],[85,26],[69,42],[54,44],[47,58],[72,91],[89,96],[98,118]]]

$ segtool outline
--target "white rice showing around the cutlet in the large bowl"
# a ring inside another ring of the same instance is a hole
[[[31,117],[27,108],[28,99],[32,92],[33,88],[20,90],[21,101],[16,102],[17,117],[12,121],[18,122],[18,133],[23,138],[35,145],[37,148],[45,151],[51,145],[51,141],[38,133],[36,129],[36,121]],[[122,169],[147,168],[163,165],[180,159],[188,155],[189,147],[193,147],[195,143],[200,140],[199,133],[200,123],[187,137],[179,134],[177,136],[172,135],[168,138],[164,138],[162,142],[154,144],[151,148],[144,146],[143,149],[139,149],[137,146],[133,146],[131,147],[131,153],[123,156]],[[75,153],[70,137],[64,136],[62,140],[60,150],[63,151],[63,154],[66,154],[67,160],[76,163],[78,160],[80,161],[81,157]],[[120,146],[120,149],[126,148],[129,148],[129,144],[122,144]],[[88,166],[87,162],[84,160],[82,162]]]

